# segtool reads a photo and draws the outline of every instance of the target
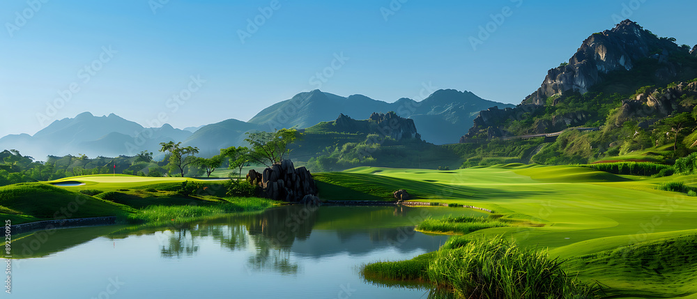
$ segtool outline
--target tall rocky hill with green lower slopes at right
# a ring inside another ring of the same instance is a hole
[[[584,40],[569,62],[549,70],[542,86],[520,105],[480,112],[460,142],[601,125],[640,87],[697,77],[696,48],[678,46],[674,38],[659,38],[631,20],[622,21]],[[668,109],[666,102],[654,104],[664,116],[677,109]]]

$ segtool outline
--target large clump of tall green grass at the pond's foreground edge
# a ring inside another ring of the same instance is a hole
[[[562,261],[546,251],[526,249],[504,238],[477,239],[438,250],[429,281],[459,298],[597,298],[597,285],[569,276]]]

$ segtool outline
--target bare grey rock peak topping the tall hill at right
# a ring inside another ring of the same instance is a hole
[[[654,36],[631,20],[624,20],[612,30],[593,33],[583,41],[569,63],[547,72],[542,86],[528,95],[524,103],[545,105],[545,100],[564,91],[588,92],[590,86],[602,80],[602,74],[614,70],[631,70],[638,59],[658,59],[666,68],[659,77],[670,77],[675,68],[668,62],[677,45]],[[684,51],[684,50],[683,50]]]

